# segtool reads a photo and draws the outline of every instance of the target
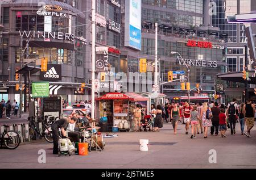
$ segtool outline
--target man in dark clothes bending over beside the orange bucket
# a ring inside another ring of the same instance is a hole
[[[77,118],[72,116],[71,118],[61,118],[56,120],[52,124],[52,137],[53,137],[53,154],[58,154],[58,142],[59,142],[59,128],[61,129],[61,134],[64,137],[67,137],[67,127],[68,123],[74,124],[77,122]]]

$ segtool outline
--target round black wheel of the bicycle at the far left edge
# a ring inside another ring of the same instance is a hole
[[[19,134],[15,131],[7,131],[3,136],[5,146],[8,149],[16,149],[19,146]]]

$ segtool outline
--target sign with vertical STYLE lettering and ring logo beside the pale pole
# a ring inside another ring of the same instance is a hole
[[[96,72],[109,71],[109,52],[108,47],[96,47]]]

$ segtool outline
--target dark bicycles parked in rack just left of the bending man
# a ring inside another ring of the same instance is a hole
[[[38,122],[35,121],[35,117],[28,118],[28,125],[29,125],[29,133],[30,133],[30,139],[33,139],[35,137],[35,132],[38,133],[40,137],[44,137],[48,143],[53,143],[53,137],[52,137],[52,123],[47,123],[48,116],[46,115],[43,117],[38,118]],[[42,129],[39,129],[39,122],[42,122]],[[40,131],[43,130],[43,131]]]

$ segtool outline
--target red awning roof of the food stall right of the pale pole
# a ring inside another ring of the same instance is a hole
[[[108,93],[102,95],[99,98],[95,98],[96,101],[100,100],[113,100],[113,99],[120,99],[120,100],[128,100],[128,101],[148,101],[147,97],[143,97],[137,93]]]

